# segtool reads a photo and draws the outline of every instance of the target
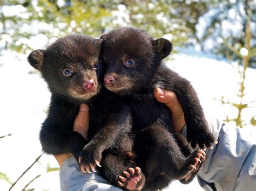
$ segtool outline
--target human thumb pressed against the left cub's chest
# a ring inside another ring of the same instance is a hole
[[[79,132],[86,140],[88,139],[89,120],[89,107],[86,104],[81,104],[73,125],[73,131]]]

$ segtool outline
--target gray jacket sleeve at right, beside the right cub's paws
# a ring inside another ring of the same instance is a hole
[[[256,190],[255,129],[210,123],[218,144],[206,151],[198,172],[200,186],[205,190]]]

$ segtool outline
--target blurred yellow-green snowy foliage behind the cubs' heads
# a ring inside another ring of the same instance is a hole
[[[70,33],[99,37],[127,25],[145,29],[156,38],[169,34],[174,45],[180,46],[193,37],[198,17],[207,10],[205,2],[186,2],[2,0],[0,47],[24,52],[42,46],[39,40]],[[31,38],[35,44],[29,42]]]

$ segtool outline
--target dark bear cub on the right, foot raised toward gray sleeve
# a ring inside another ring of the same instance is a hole
[[[210,147],[214,137],[208,130],[196,91],[162,60],[172,44],[154,40],[145,31],[124,27],[104,34],[102,55],[106,65],[104,85],[122,96],[132,109],[134,152],[146,176],[145,190],[163,189],[171,180],[190,182],[198,171],[203,150],[191,150],[174,131],[170,110],[154,97],[154,88],[172,90],[184,111],[187,140],[193,148]]]

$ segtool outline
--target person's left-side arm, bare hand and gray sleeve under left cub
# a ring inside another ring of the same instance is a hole
[[[80,110],[73,125],[73,131],[87,139],[89,130],[89,107],[80,105]],[[120,189],[109,185],[99,173],[82,173],[72,154],[55,155],[60,166],[60,190],[113,190]]]

